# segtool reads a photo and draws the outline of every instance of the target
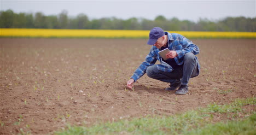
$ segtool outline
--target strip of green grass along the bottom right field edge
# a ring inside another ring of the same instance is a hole
[[[236,99],[231,104],[208,105],[206,108],[190,110],[172,116],[147,116],[118,122],[106,122],[90,127],[70,126],[55,134],[255,134],[255,112],[242,109],[245,105],[255,105],[254,97]],[[240,120],[244,116],[245,120]],[[212,120],[223,116],[223,120],[214,124]],[[246,118],[246,115],[251,115]],[[225,123],[227,119],[233,121]]]

